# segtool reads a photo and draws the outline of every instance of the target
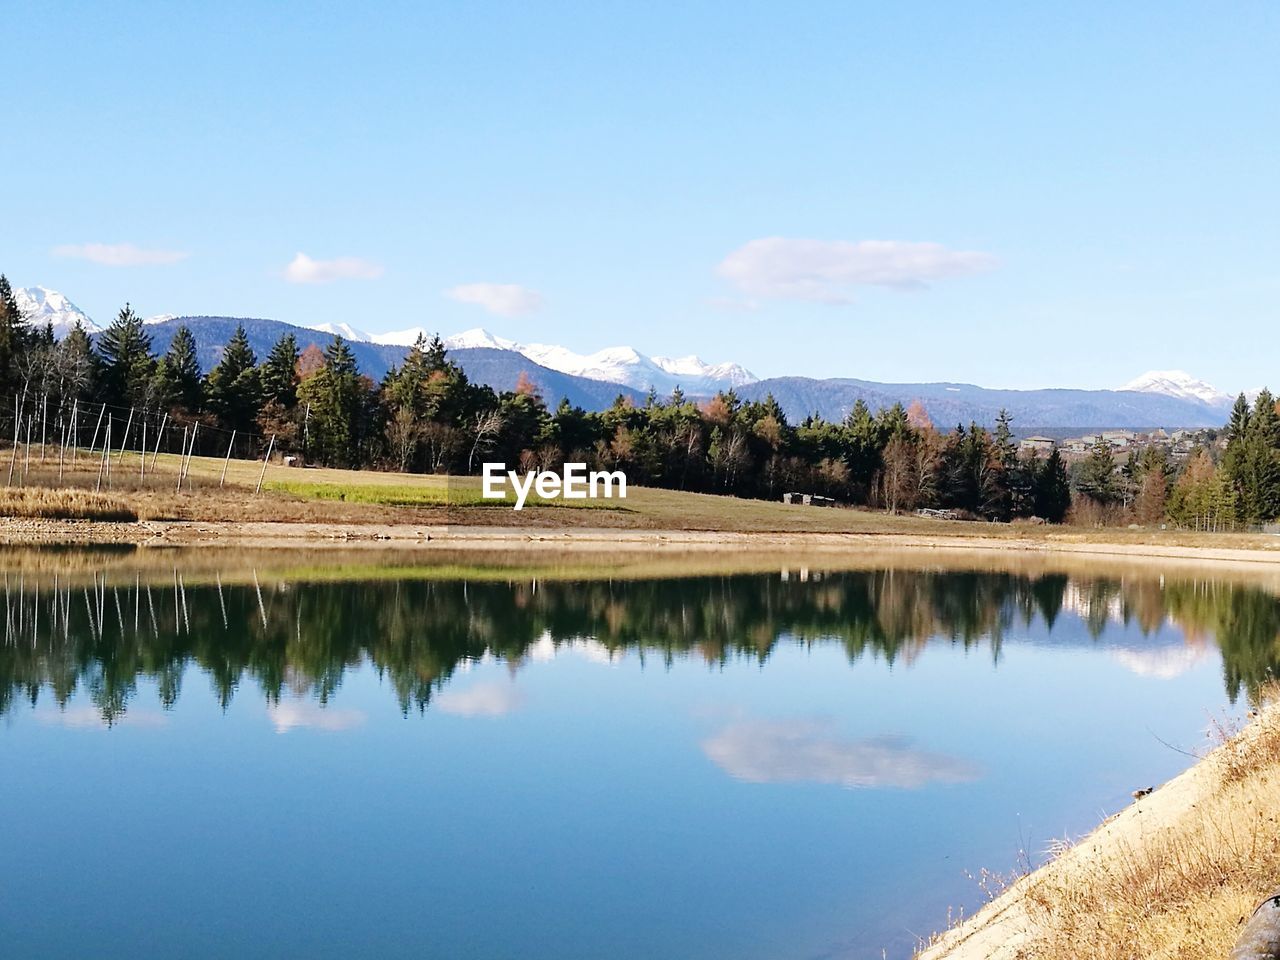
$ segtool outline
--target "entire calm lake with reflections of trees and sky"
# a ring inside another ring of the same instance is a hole
[[[9,554],[4,954],[908,957],[1280,659],[1249,582],[841,567]]]

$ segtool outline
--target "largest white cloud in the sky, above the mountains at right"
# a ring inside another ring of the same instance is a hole
[[[724,257],[717,273],[750,297],[847,303],[855,287],[919,289],[995,265],[991,253],[941,243],[764,237]]]

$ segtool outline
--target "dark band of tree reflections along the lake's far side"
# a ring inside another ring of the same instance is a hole
[[[1066,622],[1074,626],[1065,626]],[[1119,626],[1125,630],[1119,630]],[[321,705],[348,668],[369,663],[406,713],[425,710],[453,673],[490,655],[518,664],[590,640],[608,655],[669,663],[765,662],[780,644],[840,644],[850,662],[910,662],[931,645],[986,648],[998,662],[1011,636],[1041,643],[1167,646],[1217,643],[1226,692],[1254,698],[1280,660],[1280,603],[1215,580],[1119,581],[1047,573],[886,570],[795,577],[699,576],[630,581],[376,580],[74,585],[10,573],[0,646],[0,712],[83,691],[118,721],[141,681],[172,707],[188,671],[221,704],[252,686]],[[1140,653],[1140,652],[1139,652]],[[483,707],[483,705],[481,705]],[[480,709],[479,707],[476,709]]]

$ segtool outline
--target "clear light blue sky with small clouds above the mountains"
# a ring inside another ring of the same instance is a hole
[[[1274,4],[5,19],[0,271],[99,321],[128,300],[995,387],[1272,372]]]

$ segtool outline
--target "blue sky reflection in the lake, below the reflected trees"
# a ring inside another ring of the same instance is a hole
[[[644,660],[644,663],[643,663]],[[86,691],[0,728],[0,929],[44,957],[905,956],[965,872],[1092,828],[1203,746],[1212,644],[1073,611],[892,666],[589,639],[456,672],[426,712],[352,664],[225,710],[191,667],[106,730]],[[300,685],[301,690],[301,685]]]

